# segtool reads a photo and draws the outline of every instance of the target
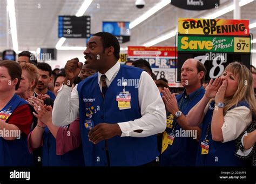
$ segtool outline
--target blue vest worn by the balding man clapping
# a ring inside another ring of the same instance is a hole
[[[200,87],[198,90],[191,93],[187,98],[184,92],[176,96],[179,110],[187,115],[193,106],[204,96],[205,90]],[[174,129],[173,129],[174,128]],[[178,131],[178,133],[177,133]],[[197,158],[198,142],[193,137],[185,137],[181,134],[185,130],[181,128],[173,118],[172,114],[167,116],[167,127],[163,136],[161,166],[195,166]],[[175,138],[172,145],[167,143],[168,134],[173,132]],[[191,131],[190,131],[191,132]]]

